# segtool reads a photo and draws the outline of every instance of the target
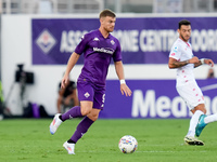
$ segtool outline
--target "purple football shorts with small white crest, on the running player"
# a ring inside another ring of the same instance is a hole
[[[97,86],[89,81],[78,81],[78,99],[90,100],[93,103],[93,108],[103,110],[105,102],[105,86]]]

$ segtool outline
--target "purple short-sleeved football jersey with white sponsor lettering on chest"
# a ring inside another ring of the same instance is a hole
[[[111,33],[104,38],[99,29],[86,33],[75,52],[85,57],[78,81],[86,79],[97,85],[105,85],[111,58],[122,60],[119,41]]]

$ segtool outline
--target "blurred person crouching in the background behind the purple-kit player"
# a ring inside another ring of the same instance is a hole
[[[65,112],[67,108],[78,106],[77,86],[74,81],[68,81],[65,89],[59,84],[58,112]]]

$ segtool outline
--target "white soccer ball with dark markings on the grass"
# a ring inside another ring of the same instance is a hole
[[[119,150],[124,153],[132,153],[137,150],[137,139],[130,135],[125,135],[119,139]]]

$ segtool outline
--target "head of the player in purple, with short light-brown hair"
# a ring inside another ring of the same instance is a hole
[[[113,11],[105,9],[100,13],[101,27],[107,32],[112,32],[115,27],[116,15]]]

